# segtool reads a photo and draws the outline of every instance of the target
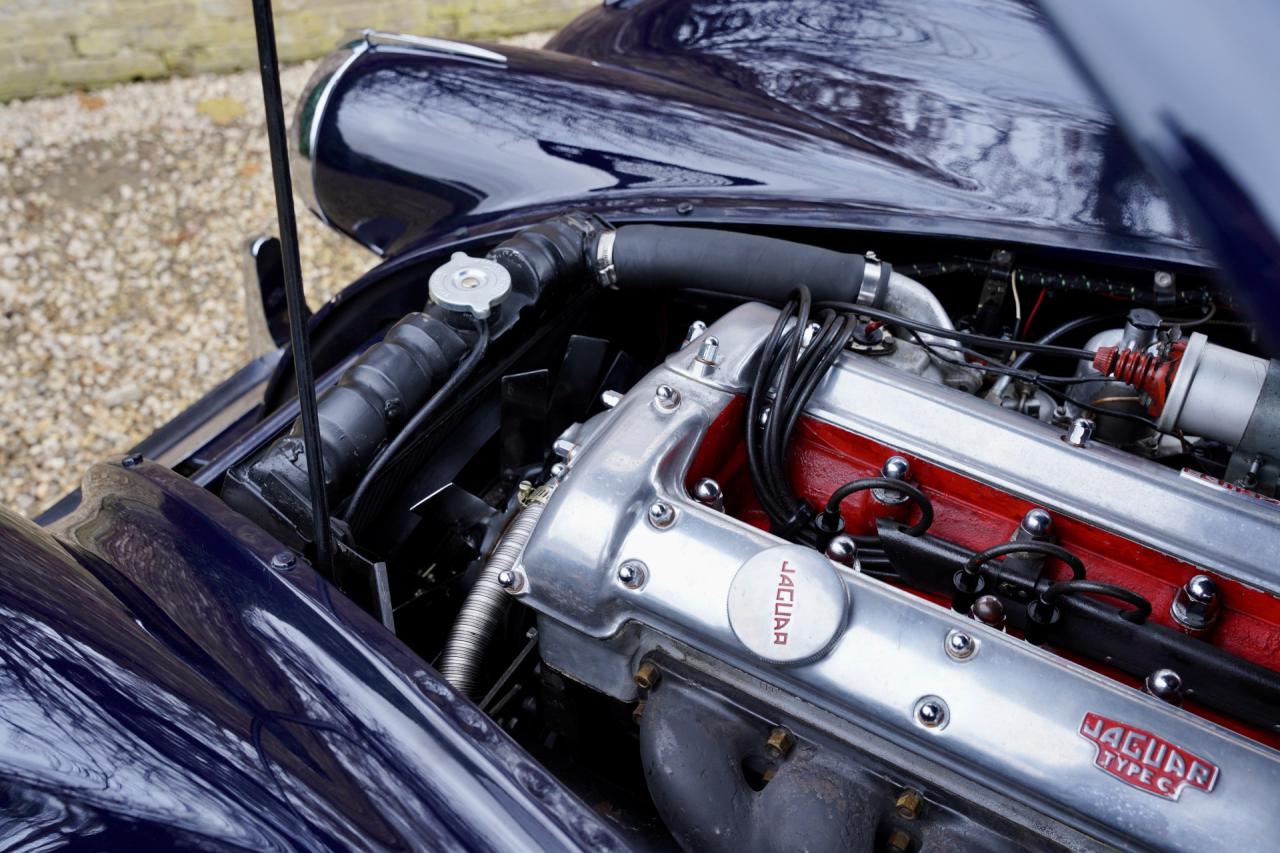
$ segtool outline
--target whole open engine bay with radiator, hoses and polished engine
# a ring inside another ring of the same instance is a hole
[[[849,241],[566,214],[397,273],[320,347],[339,587],[637,847],[1263,821],[1248,318],[1204,270]],[[219,485],[307,552],[300,447]]]

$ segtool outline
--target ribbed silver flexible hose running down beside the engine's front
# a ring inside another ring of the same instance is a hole
[[[502,619],[511,606],[511,593],[498,583],[503,571],[513,571],[529,537],[547,508],[554,485],[543,485],[529,497],[527,505],[503,532],[497,547],[489,555],[480,578],[476,579],[467,599],[462,602],[449,639],[440,656],[440,675],[460,693],[475,697],[479,693],[480,669],[489,643],[502,626]]]

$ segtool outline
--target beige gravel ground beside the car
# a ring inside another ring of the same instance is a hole
[[[282,70],[288,115],[314,67]],[[40,512],[246,361],[261,117],[255,72],[0,105],[0,506]],[[319,306],[376,259],[297,205]]]

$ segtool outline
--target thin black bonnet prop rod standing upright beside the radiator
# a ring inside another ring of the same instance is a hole
[[[298,259],[298,225],[293,216],[293,182],[289,179],[289,158],[284,138],[284,101],[280,96],[280,68],[275,54],[275,23],[271,19],[271,0],[253,0],[253,29],[257,33],[257,64],[262,73],[266,138],[271,149],[275,214],[280,225],[284,298],[289,309],[289,345],[293,350],[293,374],[297,377],[298,407],[302,414],[302,443],[311,484],[311,528],[316,548],[316,567],[332,580],[333,528],[329,523],[329,498],[324,488],[320,418],[316,412],[316,383],[311,368],[306,293],[302,291],[302,264]]]

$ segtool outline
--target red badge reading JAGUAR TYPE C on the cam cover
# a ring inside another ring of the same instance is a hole
[[[1093,763],[1134,788],[1178,799],[1184,788],[1206,794],[1217,783],[1217,765],[1193,756],[1179,745],[1119,720],[1088,712],[1080,736],[1093,743]]]

